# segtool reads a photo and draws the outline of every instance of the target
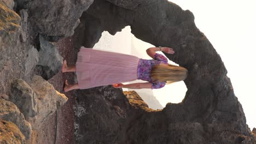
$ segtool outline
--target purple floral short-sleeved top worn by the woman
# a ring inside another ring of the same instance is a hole
[[[157,89],[165,86],[166,82],[153,82],[150,77],[150,71],[154,65],[160,63],[168,64],[167,58],[160,53],[155,53],[154,59],[139,59],[137,77],[139,80],[144,80],[152,83],[152,89]]]

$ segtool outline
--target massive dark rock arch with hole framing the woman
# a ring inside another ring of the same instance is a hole
[[[127,99],[110,87],[78,91],[77,143],[255,143],[222,59],[195,26],[193,13],[168,1],[136,1],[136,7],[131,2],[95,0],[83,19],[94,17],[98,22],[89,28],[110,34],[130,25],[137,38],[173,47],[175,55],[165,55],[189,70],[184,81],[188,91],[182,103],[169,103],[161,111],[133,109],[127,103],[117,109],[112,103]],[[94,35],[89,28],[80,33]],[[95,33],[92,41],[98,37]],[[106,96],[111,91],[115,96]]]

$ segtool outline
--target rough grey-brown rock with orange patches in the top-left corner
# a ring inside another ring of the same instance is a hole
[[[31,46],[20,41],[20,16],[1,1],[0,9],[0,95],[9,95],[11,81],[25,76],[25,61]]]

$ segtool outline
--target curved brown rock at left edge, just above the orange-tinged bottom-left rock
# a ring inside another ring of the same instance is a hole
[[[0,99],[0,107],[0,119],[16,124],[26,139],[29,139],[31,136],[31,125],[25,120],[18,107],[4,99]]]

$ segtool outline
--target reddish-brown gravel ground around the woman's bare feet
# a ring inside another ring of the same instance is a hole
[[[72,37],[63,38],[54,43],[60,51],[60,55],[67,59],[68,65],[75,63],[75,50]],[[35,73],[39,73],[36,71]],[[74,73],[57,73],[48,80],[56,91],[63,93],[63,82],[65,80],[74,82]],[[40,131],[34,131],[32,139],[27,143],[74,143],[74,92],[65,93],[68,101],[61,109],[57,110],[54,115],[44,122]]]

